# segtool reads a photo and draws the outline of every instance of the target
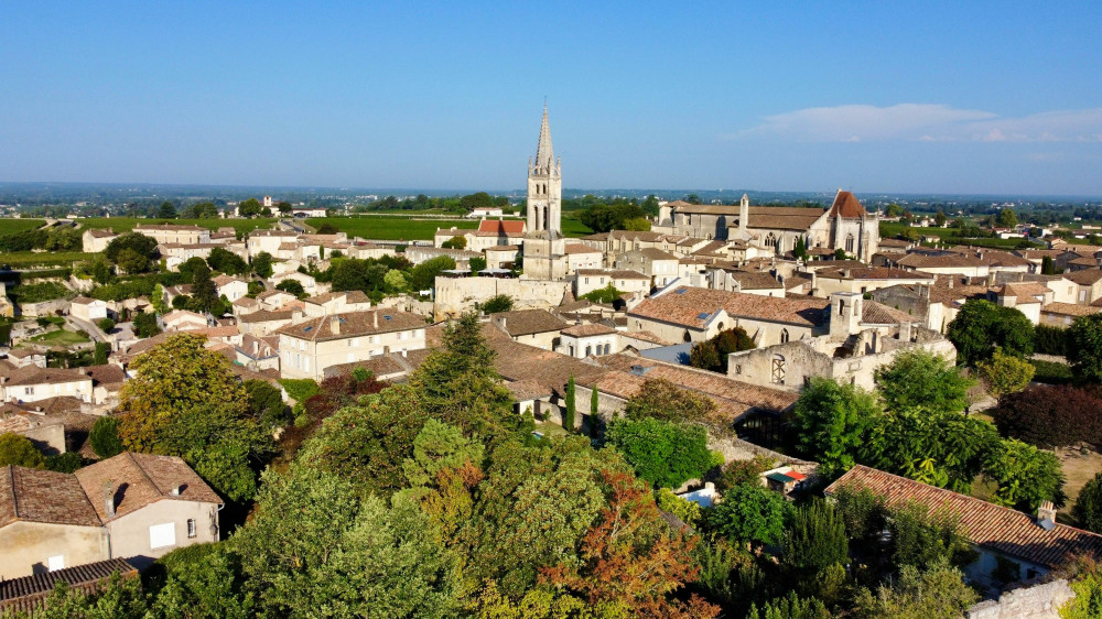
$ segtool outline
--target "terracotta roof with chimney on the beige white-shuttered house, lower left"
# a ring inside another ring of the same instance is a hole
[[[134,454],[123,452],[77,469],[74,474],[96,513],[104,522],[133,513],[160,500],[198,501],[222,503],[218,495],[195,474],[184,460],[175,456]],[[110,485],[115,493],[115,515],[104,509],[104,488]],[[173,490],[180,488],[179,495]]]

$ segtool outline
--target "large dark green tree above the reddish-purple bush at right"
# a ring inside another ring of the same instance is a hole
[[[1033,354],[1034,326],[1014,307],[1000,307],[990,301],[970,298],[949,323],[946,336],[957,347],[957,362],[974,366],[990,359],[1000,346],[1007,355]]]

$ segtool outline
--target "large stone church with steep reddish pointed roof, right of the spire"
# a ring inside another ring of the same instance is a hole
[[[802,238],[808,251],[834,253],[841,249],[862,262],[872,260],[880,241],[879,217],[868,213],[850,192],[838,191],[830,208],[750,206],[672,202],[661,207],[657,232],[701,239],[741,241],[784,254]]]

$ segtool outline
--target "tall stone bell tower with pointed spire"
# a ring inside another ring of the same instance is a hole
[[[562,162],[551,148],[548,106],[536,160],[528,160],[528,234],[523,249],[525,279],[563,280],[566,276],[565,239],[562,236]]]

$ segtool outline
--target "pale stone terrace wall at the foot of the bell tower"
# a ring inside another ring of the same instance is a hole
[[[550,310],[562,303],[570,282],[514,280],[498,278],[436,278],[437,321],[456,317],[474,310],[491,296],[512,297],[514,310]]]

